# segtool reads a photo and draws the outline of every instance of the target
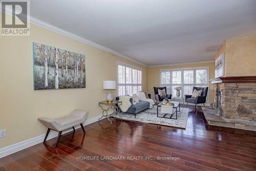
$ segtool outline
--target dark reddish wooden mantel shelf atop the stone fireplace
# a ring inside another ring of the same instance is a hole
[[[218,77],[209,80],[211,83],[222,82],[256,82],[256,76],[232,76],[232,77]]]

